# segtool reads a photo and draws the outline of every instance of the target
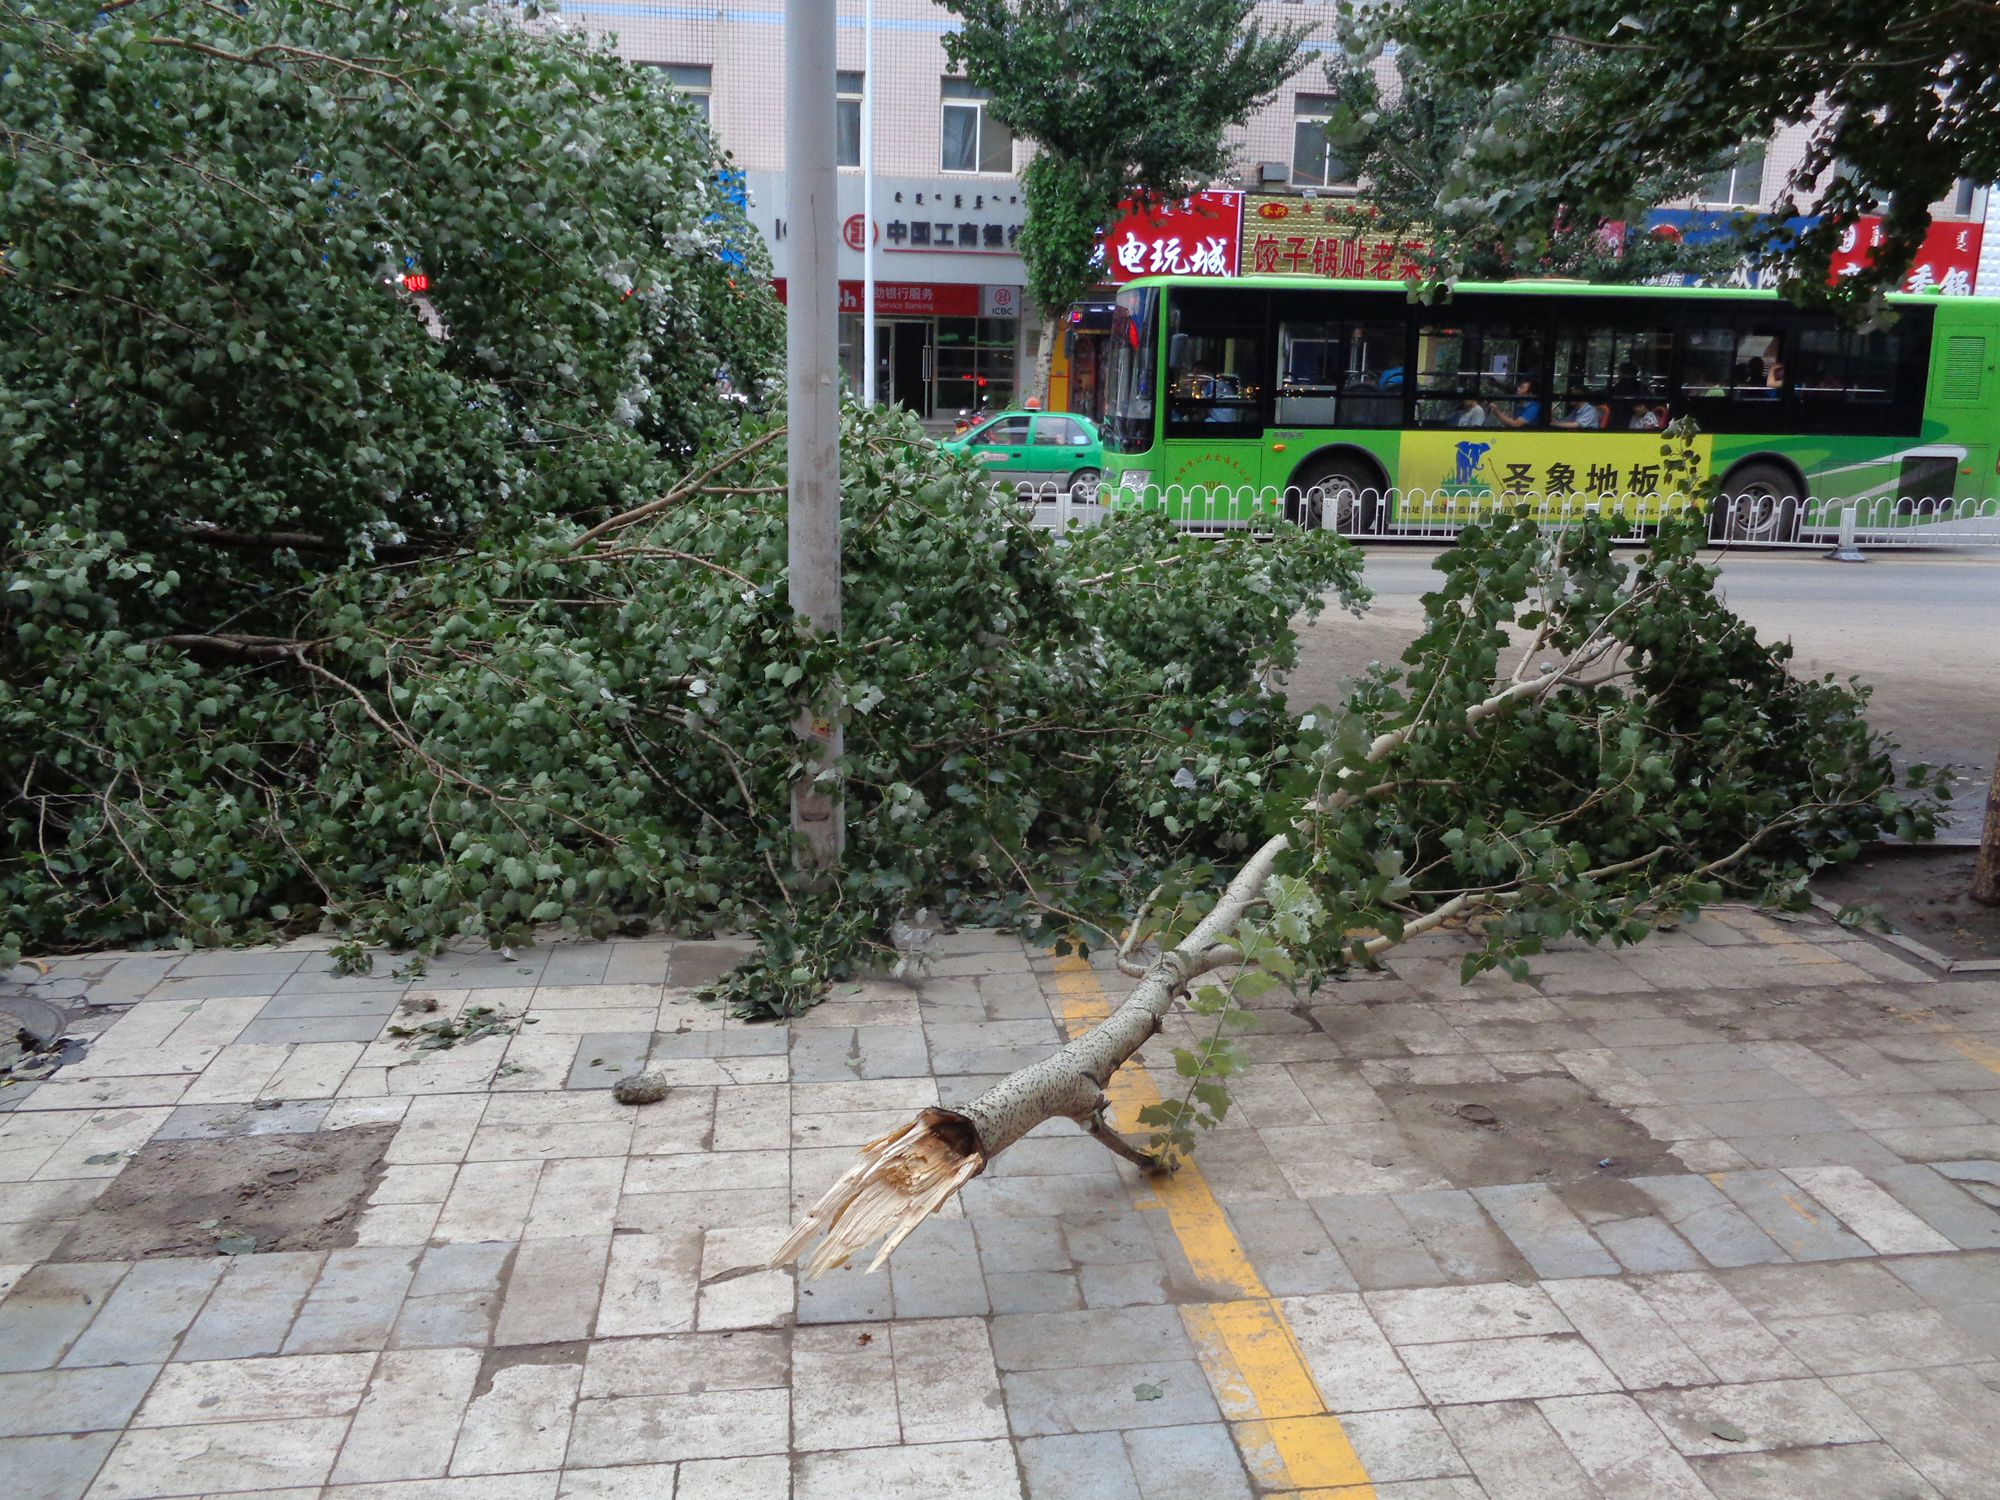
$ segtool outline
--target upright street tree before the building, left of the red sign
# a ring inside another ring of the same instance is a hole
[[[1224,130],[1306,64],[1310,26],[1266,26],[1256,0],[938,0],[960,20],[952,66],[1036,144],[1020,256],[1042,308],[1036,390],[1056,320],[1102,280],[1098,234],[1128,198],[1180,198],[1230,164]]]

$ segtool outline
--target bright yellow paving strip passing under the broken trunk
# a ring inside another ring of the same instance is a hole
[[[1064,1028],[1078,1036],[1104,1020],[1112,1006],[1090,964],[1056,960],[1056,996]],[[1144,1068],[1120,1068],[1106,1090],[1116,1124],[1144,1134],[1138,1112],[1160,1100]],[[1244,1466],[1274,1500],[1374,1500],[1368,1470],[1340,1420],[1306,1368],[1306,1356],[1208,1190],[1196,1162],[1156,1178],[1140,1208],[1166,1214],[1188,1266],[1224,1294],[1218,1302],[1180,1308],[1180,1320],[1216,1390]]]

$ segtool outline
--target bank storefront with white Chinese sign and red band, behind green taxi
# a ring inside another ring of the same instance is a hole
[[[840,368],[862,388],[860,178],[840,176]],[[750,218],[770,244],[784,298],[792,228],[784,176],[750,174]],[[1020,394],[1022,264],[1014,252],[1026,208],[1020,184],[876,178],[876,394],[938,424],[1000,410]]]

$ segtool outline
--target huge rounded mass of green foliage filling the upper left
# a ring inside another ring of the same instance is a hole
[[[178,586],[112,586],[124,628],[276,630],[348,556],[664,488],[740,424],[718,368],[774,370],[698,116],[576,34],[32,0],[0,78],[8,542],[142,550]]]

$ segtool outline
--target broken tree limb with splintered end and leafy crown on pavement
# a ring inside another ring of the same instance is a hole
[[[1802,680],[1714,594],[1700,524],[1670,522],[1630,564],[1612,522],[1470,528],[1424,598],[1402,672],[1348,696],[1276,818],[1200,910],[1132,916],[1118,960],[1138,978],[1112,1016],[970,1104],[924,1110],[862,1148],[772,1264],[806,1266],[882,1238],[880,1264],[928,1214],[1046,1120],[1170,1166],[1228,1108],[1236,1002],[1286,978],[1370,964],[1436,928],[1470,934],[1466,978],[1526,976],[1562,936],[1628,944],[1726,892],[1798,900],[1860,840],[1926,836],[1938,790],[1898,788],[1866,688]],[[1158,938],[1156,956],[1132,954]],[[1228,972],[1226,982],[1204,982]],[[1214,1018],[1176,1048],[1188,1080],[1152,1106],[1150,1150],[1106,1120],[1112,1074],[1186,1002]]]

